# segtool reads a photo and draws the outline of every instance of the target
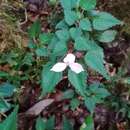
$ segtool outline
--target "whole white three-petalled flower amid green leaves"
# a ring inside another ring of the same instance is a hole
[[[84,71],[82,65],[75,62],[75,55],[73,55],[71,53],[67,54],[67,56],[63,59],[63,62],[56,63],[51,68],[51,71],[62,72],[67,68],[67,66],[69,66],[70,69],[77,74]]]

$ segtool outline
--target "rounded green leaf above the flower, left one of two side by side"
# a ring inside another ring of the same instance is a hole
[[[67,29],[62,29],[56,31],[57,37],[60,39],[60,41],[67,41],[69,39],[69,31]]]

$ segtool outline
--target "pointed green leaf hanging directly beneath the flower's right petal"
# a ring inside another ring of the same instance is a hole
[[[78,92],[80,92],[80,94],[84,96],[84,90],[86,88],[87,79],[85,72],[76,74],[75,72],[69,70],[68,79],[70,83],[75,87],[75,89],[78,90]]]

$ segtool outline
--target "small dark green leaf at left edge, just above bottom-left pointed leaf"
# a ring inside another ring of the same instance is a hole
[[[4,113],[11,108],[11,104],[9,104],[5,99],[0,98],[0,112]]]

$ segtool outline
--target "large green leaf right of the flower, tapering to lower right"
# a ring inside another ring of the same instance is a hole
[[[85,62],[90,68],[102,74],[106,79],[110,79],[104,66],[104,54],[101,50],[88,51],[85,55]]]

